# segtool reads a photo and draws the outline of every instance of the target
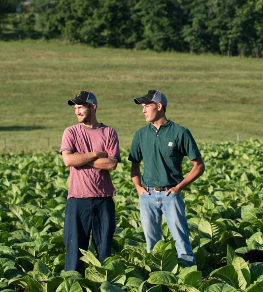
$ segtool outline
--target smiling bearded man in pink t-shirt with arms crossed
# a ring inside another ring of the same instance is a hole
[[[79,249],[88,249],[91,231],[99,261],[111,256],[115,190],[109,170],[120,162],[120,150],[116,131],[97,122],[97,99],[92,92],[78,92],[68,105],[74,105],[78,124],[65,129],[60,148],[64,164],[70,166],[64,221],[65,270],[81,272]]]

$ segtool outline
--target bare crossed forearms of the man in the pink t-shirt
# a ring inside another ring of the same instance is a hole
[[[118,164],[118,159],[108,157],[106,152],[93,151],[88,153],[72,153],[69,150],[62,151],[63,162],[65,166],[83,166],[89,165],[94,168],[113,170]]]

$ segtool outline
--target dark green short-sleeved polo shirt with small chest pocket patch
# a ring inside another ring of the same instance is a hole
[[[201,156],[188,130],[168,120],[157,130],[152,123],[134,134],[129,160],[144,162],[141,183],[146,186],[169,186],[180,183],[184,177],[182,161]]]

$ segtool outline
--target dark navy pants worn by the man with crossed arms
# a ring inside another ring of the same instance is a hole
[[[112,197],[69,198],[65,208],[64,244],[66,246],[65,270],[82,270],[79,248],[87,250],[92,230],[92,240],[97,259],[102,263],[112,255],[115,231],[115,206]]]

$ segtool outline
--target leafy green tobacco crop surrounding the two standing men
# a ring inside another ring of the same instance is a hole
[[[196,265],[177,258],[163,220],[151,253],[130,178],[129,149],[111,171],[116,189],[112,257],[103,265],[92,242],[83,273],[64,271],[64,207],[69,168],[55,151],[0,153],[0,291],[4,292],[262,292],[263,142],[199,145],[205,173],[183,191]],[[191,164],[184,160],[186,174]]]

